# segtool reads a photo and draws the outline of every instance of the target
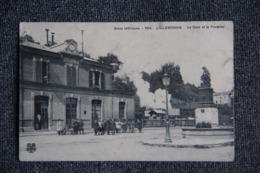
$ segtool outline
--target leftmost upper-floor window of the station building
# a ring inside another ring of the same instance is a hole
[[[36,61],[36,82],[49,82],[49,64],[48,61]]]

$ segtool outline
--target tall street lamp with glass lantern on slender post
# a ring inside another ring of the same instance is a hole
[[[170,122],[169,122],[169,115],[168,115],[168,90],[167,90],[167,87],[170,85],[170,77],[167,73],[163,75],[162,81],[166,91],[166,113],[165,113],[166,135],[165,135],[164,142],[171,143],[172,139],[170,135]]]

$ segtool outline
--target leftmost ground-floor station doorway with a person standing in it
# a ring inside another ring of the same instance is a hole
[[[34,129],[48,129],[48,102],[47,96],[35,96]]]

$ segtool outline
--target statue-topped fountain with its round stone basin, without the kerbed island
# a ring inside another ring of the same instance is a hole
[[[186,137],[221,137],[233,138],[233,128],[219,127],[218,108],[213,103],[213,89],[210,83],[210,73],[206,67],[202,67],[201,84],[199,87],[199,106],[195,109],[194,128],[182,128],[182,136]]]

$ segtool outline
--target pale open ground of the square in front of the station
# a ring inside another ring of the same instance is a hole
[[[21,161],[233,161],[234,146],[169,148],[142,144],[144,140],[163,141],[164,136],[165,128],[102,136],[94,133],[59,136],[53,132],[20,135],[19,158]],[[181,129],[172,127],[171,137],[181,140]],[[35,143],[36,151],[28,152],[28,143]]]

